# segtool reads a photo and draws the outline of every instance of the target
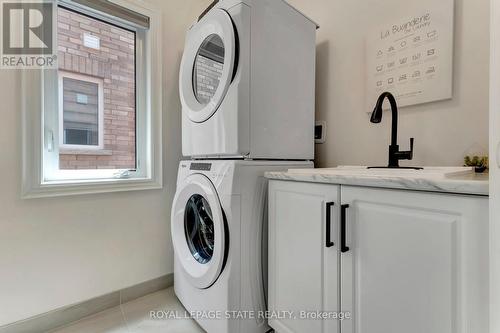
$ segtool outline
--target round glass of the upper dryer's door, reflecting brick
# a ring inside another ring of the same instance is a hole
[[[215,95],[224,69],[224,42],[208,36],[200,46],[193,68],[193,90],[198,102],[208,104]]]

